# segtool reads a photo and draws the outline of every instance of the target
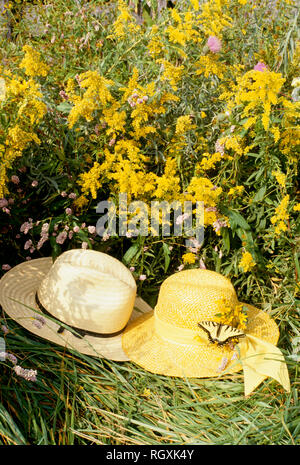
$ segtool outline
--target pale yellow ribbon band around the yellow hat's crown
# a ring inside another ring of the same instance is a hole
[[[207,344],[208,342],[207,336],[202,335],[198,330],[180,328],[179,326],[161,320],[156,309],[154,309],[154,326],[158,336],[173,344],[199,345],[199,343]]]

